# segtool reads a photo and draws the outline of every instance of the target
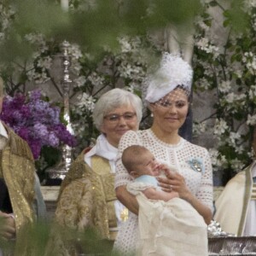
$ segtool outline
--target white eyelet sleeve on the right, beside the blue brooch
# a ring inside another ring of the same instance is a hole
[[[196,197],[199,201],[207,205],[207,207],[209,207],[213,212],[212,161],[206,148],[203,160],[205,172],[201,177],[201,186],[196,193]]]

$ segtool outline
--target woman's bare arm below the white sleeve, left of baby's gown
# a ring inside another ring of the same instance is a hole
[[[138,203],[134,195],[131,195],[126,189],[125,185],[119,186],[115,189],[118,200],[127,207],[131,212],[138,214]]]

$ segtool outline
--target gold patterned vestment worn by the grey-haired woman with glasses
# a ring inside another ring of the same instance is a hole
[[[113,240],[110,229],[117,227],[116,200],[114,173],[108,160],[94,155],[90,167],[84,162],[83,152],[61,183],[55,220],[76,230],[95,227],[103,239]]]

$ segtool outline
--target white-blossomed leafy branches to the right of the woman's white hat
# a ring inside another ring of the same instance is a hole
[[[209,4],[223,11],[223,28],[227,38],[223,44],[218,44],[207,29],[199,28],[197,31],[194,88],[198,92],[212,90],[212,95],[217,95],[213,105],[215,112],[204,120],[215,119],[212,127],[216,139],[212,147],[216,150],[216,155],[212,156],[213,167],[235,173],[253,158],[256,9],[253,4],[246,7],[246,1],[231,1],[225,8],[219,3],[212,1]],[[210,28],[209,16],[202,17],[204,24]]]

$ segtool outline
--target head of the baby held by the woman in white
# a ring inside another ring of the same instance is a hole
[[[142,175],[159,176],[159,163],[154,155],[145,147],[132,145],[125,148],[122,154],[122,162],[125,169],[132,177]]]

